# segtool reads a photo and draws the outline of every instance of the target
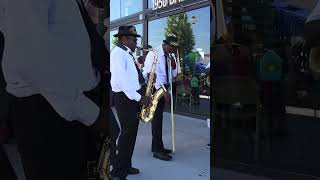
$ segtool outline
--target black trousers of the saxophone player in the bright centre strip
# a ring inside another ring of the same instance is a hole
[[[114,103],[120,121],[121,132],[112,174],[115,177],[125,178],[128,175],[128,168],[132,166],[131,158],[139,126],[137,113],[139,103],[128,99],[122,92],[114,93]]]

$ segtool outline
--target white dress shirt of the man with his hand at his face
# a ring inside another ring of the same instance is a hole
[[[161,85],[168,85],[170,84],[170,82],[167,82],[167,75],[166,75],[166,59],[165,59],[165,53],[163,51],[162,45],[158,46],[155,48],[158,51],[158,62],[156,65],[156,82],[154,84],[156,89],[159,89],[161,87]],[[144,62],[144,67],[143,67],[143,77],[147,80],[148,79],[148,73],[150,73],[151,68],[152,68],[152,63],[154,61],[154,52],[150,51],[145,59]],[[173,57],[174,61],[177,63],[177,60],[174,56],[174,54],[171,54],[171,56]],[[171,79],[171,63],[168,62],[168,76],[169,76],[169,81]],[[176,69],[172,69],[172,76],[176,77],[177,76],[177,68]]]

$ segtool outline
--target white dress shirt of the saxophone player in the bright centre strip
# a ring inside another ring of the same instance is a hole
[[[135,59],[128,52],[115,46],[110,54],[111,87],[113,92],[124,92],[130,100],[140,101],[137,92],[141,86]]]

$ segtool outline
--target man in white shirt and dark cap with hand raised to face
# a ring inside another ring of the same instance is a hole
[[[156,80],[154,83],[155,90],[158,90],[162,86],[166,89],[170,86],[170,79],[177,76],[177,64],[176,58],[174,56],[175,48],[178,46],[178,39],[174,35],[169,35],[164,41],[163,44],[156,47],[155,50],[158,51],[158,62],[156,65]],[[151,71],[152,63],[154,61],[154,52],[149,52],[144,68],[143,75],[144,78],[148,78],[148,74]],[[170,71],[172,70],[172,73]],[[166,93],[164,97],[162,97],[157,105],[156,112],[154,114],[154,118],[152,120],[152,148],[153,157],[169,161],[172,159],[172,156],[169,154],[172,153],[172,150],[165,149],[162,141],[162,119],[163,119],[163,111],[165,107],[165,103],[170,103],[170,94]]]

